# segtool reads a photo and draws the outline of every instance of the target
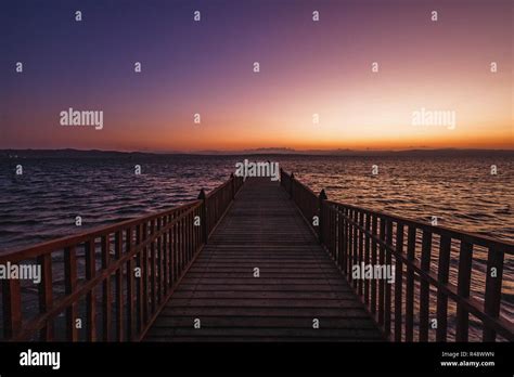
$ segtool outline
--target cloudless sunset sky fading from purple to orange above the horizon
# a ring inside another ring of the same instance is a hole
[[[3,0],[0,148],[513,148],[512,4]],[[68,107],[103,130],[60,126]],[[457,128],[412,126],[422,107]]]

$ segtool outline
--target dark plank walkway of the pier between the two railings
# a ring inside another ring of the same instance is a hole
[[[298,208],[270,179],[244,184],[145,338],[382,339]]]

